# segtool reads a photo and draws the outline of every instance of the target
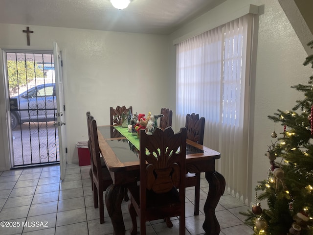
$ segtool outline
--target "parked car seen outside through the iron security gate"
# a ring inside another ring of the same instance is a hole
[[[17,109],[11,111],[12,129],[23,122],[56,121],[57,101],[55,83],[34,86],[20,95],[11,97],[17,99]]]

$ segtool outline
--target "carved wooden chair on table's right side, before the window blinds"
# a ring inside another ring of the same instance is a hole
[[[203,145],[205,118],[199,118],[199,114],[192,113],[186,115],[187,139]],[[200,173],[186,174],[186,188],[195,187],[195,210],[194,214],[199,214],[200,204]]]

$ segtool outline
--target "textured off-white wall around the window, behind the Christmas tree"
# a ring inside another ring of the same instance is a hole
[[[191,32],[200,32],[203,28],[215,25],[234,17],[246,9],[248,4],[259,7],[259,27],[256,32],[254,48],[254,70],[252,71],[251,91],[251,130],[250,155],[248,167],[248,198],[246,203],[254,203],[257,181],[267,178],[269,160],[264,156],[271,143],[273,130],[283,132],[283,126],[270,121],[278,108],[291,110],[295,100],[303,94],[291,89],[292,85],[307,83],[312,69],[302,65],[307,56],[291,24],[281,9],[278,1],[273,0],[227,0],[214,10],[207,12],[190,24],[186,24],[171,35],[173,43],[180,38],[190,36]],[[235,18],[233,18],[235,19]],[[216,25],[218,26],[218,25]],[[172,50],[171,58],[175,50]],[[171,74],[175,74],[175,60],[171,59]],[[210,136],[204,136],[204,141]],[[227,158],[227,156],[221,156]],[[246,169],[243,169],[246,170]]]

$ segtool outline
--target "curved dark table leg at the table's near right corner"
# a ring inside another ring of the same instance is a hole
[[[203,208],[205,220],[202,228],[207,235],[218,235],[221,227],[215,215],[215,208],[224,193],[226,183],[224,176],[217,171],[205,172],[205,179],[209,183],[209,192]]]

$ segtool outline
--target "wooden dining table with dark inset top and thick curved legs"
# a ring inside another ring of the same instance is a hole
[[[125,235],[122,215],[122,200],[130,184],[139,181],[139,152],[134,144],[114,126],[98,126],[100,153],[107,165],[113,184],[105,194],[106,207],[113,225],[114,235]],[[220,234],[221,227],[215,215],[215,208],[224,193],[225,179],[215,170],[219,152],[193,141],[186,141],[186,167],[190,173],[205,172],[209,191],[203,207],[205,219],[202,228],[208,235]],[[127,200],[127,199],[126,199]]]

